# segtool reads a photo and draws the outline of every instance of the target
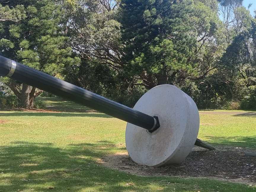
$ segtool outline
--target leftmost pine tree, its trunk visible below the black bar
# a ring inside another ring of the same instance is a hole
[[[69,38],[64,33],[67,20],[63,18],[65,9],[60,4],[50,0],[19,0],[8,5],[13,8],[18,4],[24,7],[27,17],[18,22],[1,23],[1,36],[11,41],[11,46],[1,47],[2,55],[57,77],[61,77],[64,69],[79,64],[67,45]],[[23,108],[33,108],[34,98],[42,92],[8,78],[4,82],[20,99]]]

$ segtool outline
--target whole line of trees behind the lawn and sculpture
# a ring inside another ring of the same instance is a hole
[[[256,109],[256,19],[242,3],[0,1],[0,54],[129,106],[173,84],[199,108]],[[42,93],[1,81],[23,108]]]

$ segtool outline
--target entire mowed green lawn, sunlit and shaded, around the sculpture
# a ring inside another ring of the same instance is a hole
[[[58,98],[41,99],[62,112],[0,111],[0,192],[256,191],[242,184],[143,177],[103,167],[97,163],[101,157],[126,151],[126,123]],[[256,116],[200,113],[200,139],[256,149]]]

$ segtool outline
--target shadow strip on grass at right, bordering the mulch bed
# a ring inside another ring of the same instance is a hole
[[[205,136],[207,142],[214,146],[228,146],[228,147],[249,147],[256,148],[256,136],[251,137],[212,137]]]

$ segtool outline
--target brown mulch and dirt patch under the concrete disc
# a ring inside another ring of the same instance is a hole
[[[127,153],[116,153],[99,163],[135,175],[201,177],[256,185],[256,157],[245,156],[249,149],[218,147],[209,151],[195,147],[179,165],[147,167],[136,164]]]

